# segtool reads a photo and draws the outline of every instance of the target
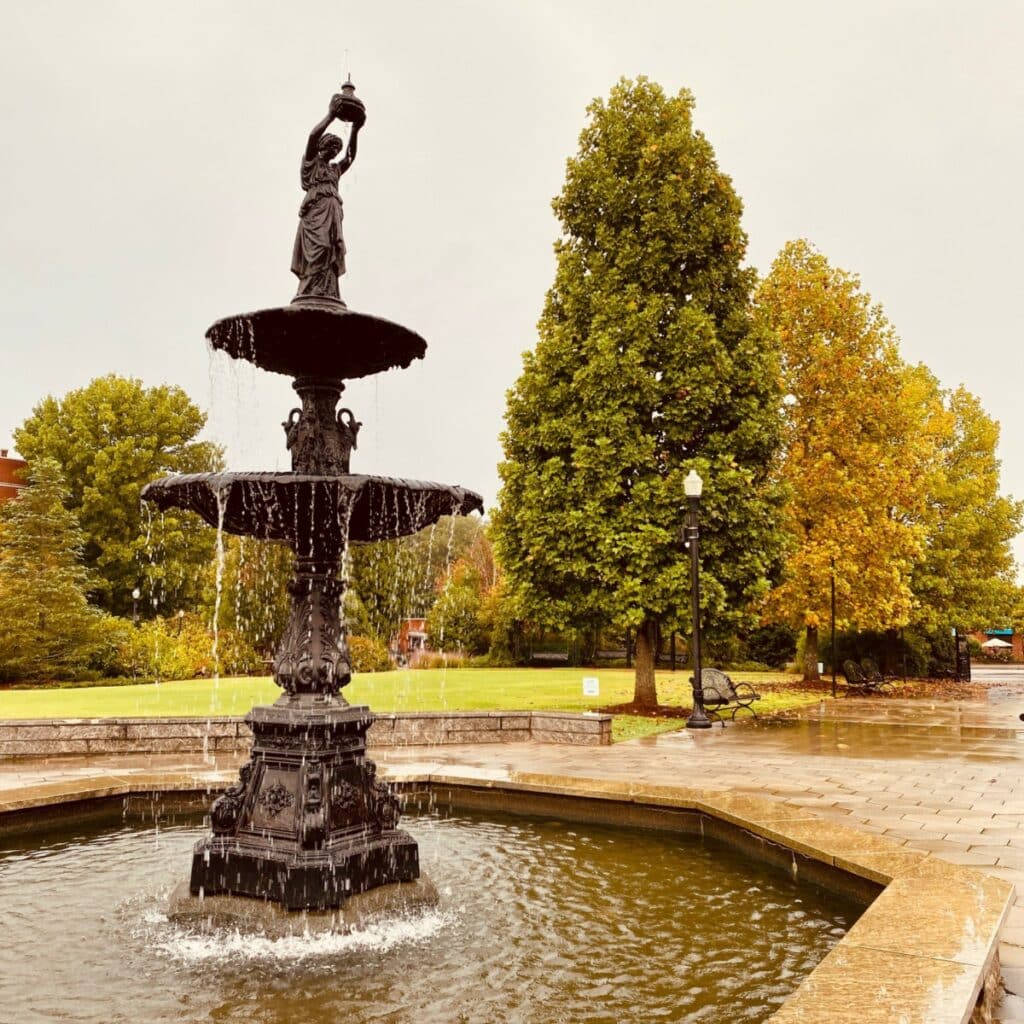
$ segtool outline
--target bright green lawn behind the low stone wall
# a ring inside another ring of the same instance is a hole
[[[583,677],[597,676],[600,695],[583,695]],[[663,705],[690,706],[689,672],[659,672]],[[755,685],[792,684],[781,673],[736,673]],[[140,686],[90,686],[73,689],[0,691],[0,719],[121,718],[244,715],[254,705],[270,703],[281,690],[269,678],[193,679]],[[594,711],[625,703],[633,696],[633,672],[628,669],[426,669],[357,676],[345,688],[350,703],[390,711]],[[781,711],[817,700],[785,686],[755,705],[758,713]],[[614,717],[616,740],[666,732],[679,719],[631,715]]]

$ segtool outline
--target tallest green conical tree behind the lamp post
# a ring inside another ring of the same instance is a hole
[[[659,624],[689,629],[680,544],[705,479],[710,628],[776,567],[773,340],[753,322],[741,204],[693,97],[644,78],[595,100],[554,201],[557,269],[509,392],[495,518],[512,597],[539,626],[637,630],[635,700],[657,702]]]

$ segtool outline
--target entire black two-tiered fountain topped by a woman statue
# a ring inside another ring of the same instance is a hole
[[[335,119],[350,126],[347,145],[327,133]],[[355,159],[365,121],[346,82],[310,132],[292,303],[228,316],[207,331],[214,348],[295,379],[302,408],[284,423],[292,471],[172,476],[143,492],[162,509],[193,509],[220,529],[285,542],[295,552],[291,617],[273,659],[285,692],[246,718],[252,755],[213,805],[213,834],[195,849],[194,896],[327,909],[419,877],[416,842],[396,827],[397,802],[367,758],[373,715],[341,695],[351,678],[341,557],[349,542],[403,537],[443,515],[482,511],[482,502],[462,487],[349,472],[359,423],[349,410],[337,411],[344,381],[408,367],[427,347],[413,331],[348,309],[339,294],[338,179]]]

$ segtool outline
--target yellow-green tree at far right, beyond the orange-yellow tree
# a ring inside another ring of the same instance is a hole
[[[943,391],[931,373],[920,372],[941,414],[924,553],[911,577],[913,622],[942,632],[1009,627],[1020,593],[1011,544],[1024,523],[1024,502],[1000,493],[999,425],[967,388]]]

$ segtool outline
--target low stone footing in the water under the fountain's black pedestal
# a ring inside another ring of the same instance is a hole
[[[180,882],[171,893],[167,918],[191,931],[240,932],[279,939],[292,935],[343,935],[379,921],[429,910],[437,902],[437,889],[425,877],[357,893],[332,910],[299,911],[248,896],[193,896],[189,884]]]

